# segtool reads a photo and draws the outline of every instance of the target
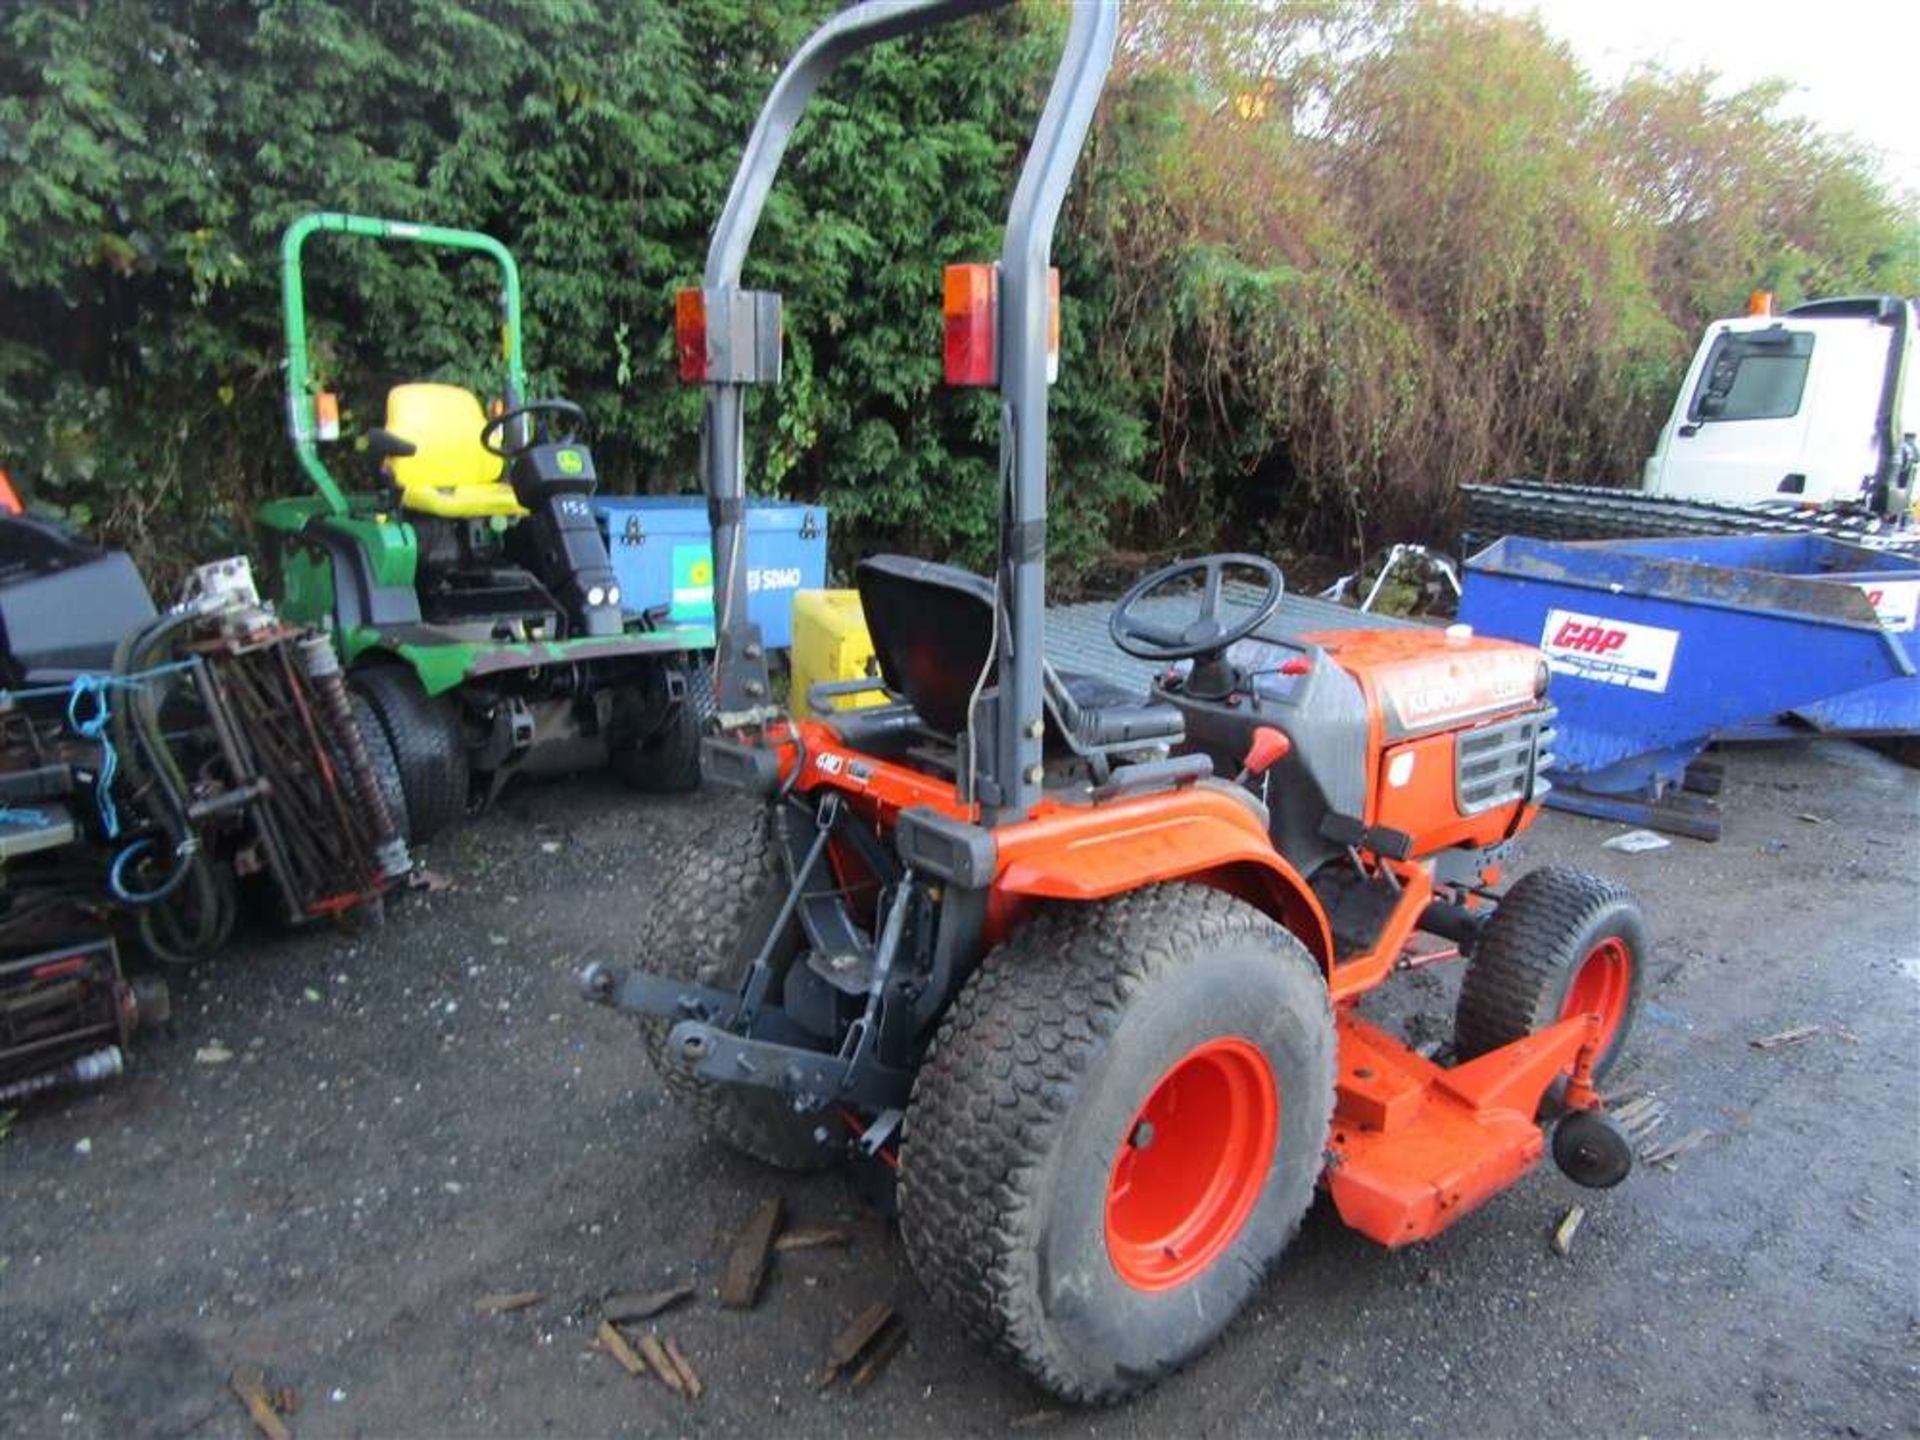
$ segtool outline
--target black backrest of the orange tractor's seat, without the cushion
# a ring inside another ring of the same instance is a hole
[[[872,555],[854,566],[854,586],[887,689],[931,730],[958,735],[993,651],[993,582],[937,561]]]

